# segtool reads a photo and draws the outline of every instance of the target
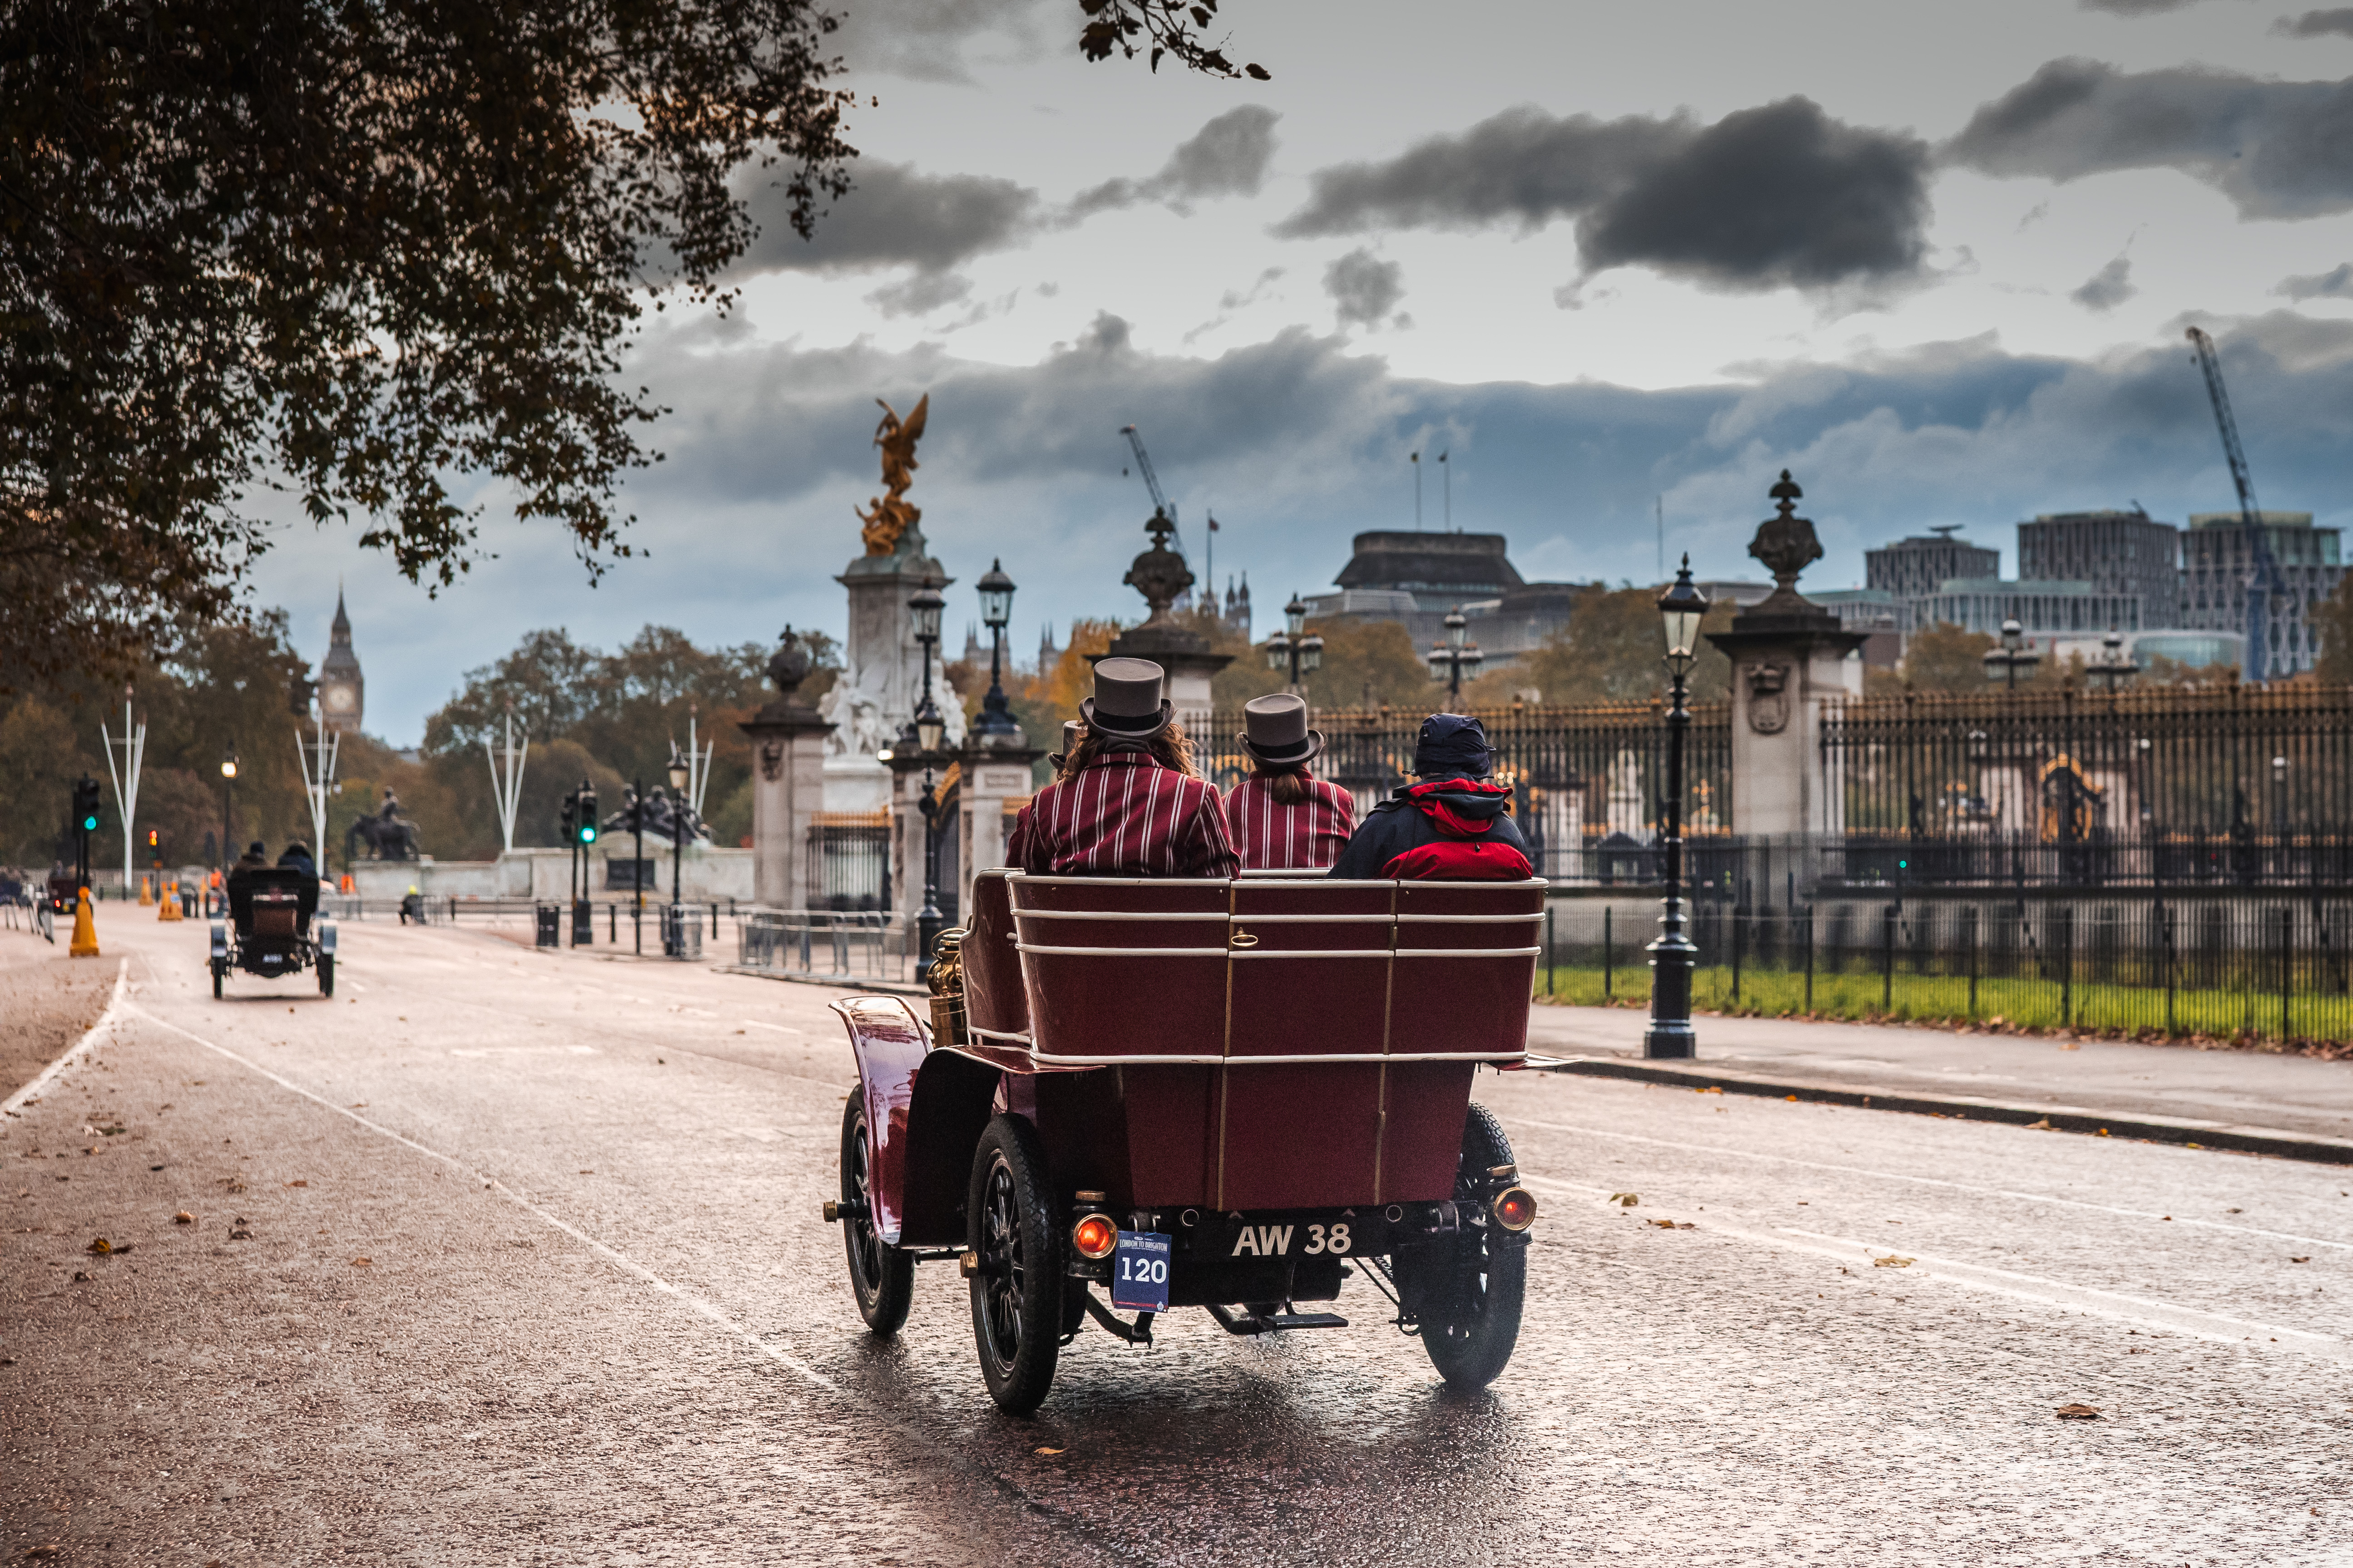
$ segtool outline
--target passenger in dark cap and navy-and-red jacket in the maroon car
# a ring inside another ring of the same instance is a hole
[[[1459,712],[1433,712],[1414,741],[1414,776],[1365,816],[1334,877],[1520,882],[1534,877],[1527,839],[1511,820],[1511,785],[1489,778],[1487,729]]]

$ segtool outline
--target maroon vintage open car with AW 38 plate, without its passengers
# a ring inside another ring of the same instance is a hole
[[[859,1093],[826,1218],[873,1333],[958,1258],[1026,1413],[1087,1316],[1346,1328],[1299,1302],[1362,1272],[1447,1382],[1504,1371],[1537,1201],[1471,1074],[1527,1058],[1541,882],[984,872],[972,905],[929,1023],[835,1004]]]

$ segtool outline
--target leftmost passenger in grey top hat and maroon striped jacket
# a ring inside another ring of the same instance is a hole
[[[1104,658],[1078,712],[1087,731],[1064,776],[1038,790],[1019,867],[1052,877],[1231,877],[1226,802],[1148,658]]]

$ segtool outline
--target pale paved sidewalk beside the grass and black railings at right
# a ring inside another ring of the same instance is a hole
[[[2115,1135],[2217,1147],[2306,1143],[2315,1147],[2275,1152],[2353,1164],[2353,1063],[1791,1018],[1697,1018],[1697,1063],[1642,1063],[1647,1023],[1638,1009],[1539,1006],[1527,1044],[1605,1077],[1868,1095],[1901,1100],[1889,1110],[2017,1112],[2000,1119],[2054,1126],[2106,1121]]]

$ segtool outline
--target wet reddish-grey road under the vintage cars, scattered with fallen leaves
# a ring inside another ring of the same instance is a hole
[[[1351,1281],[1007,1420],[946,1265],[859,1326],[833,992],[346,926],[216,1004],[202,931],[101,924],[0,1121],[7,1563],[2353,1561],[2353,1173],[1482,1074],[1546,1201],[1487,1396]]]

